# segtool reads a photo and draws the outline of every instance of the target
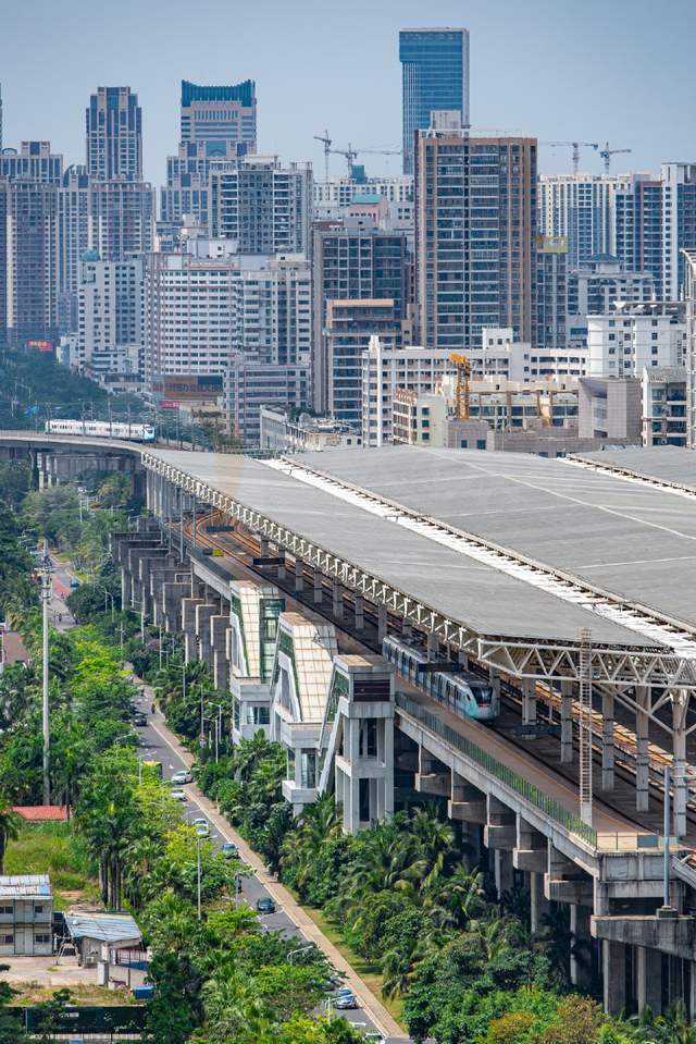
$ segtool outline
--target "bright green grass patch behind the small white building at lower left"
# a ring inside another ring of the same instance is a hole
[[[57,910],[99,898],[92,867],[72,823],[23,824],[17,839],[8,845],[4,872],[49,874]]]

